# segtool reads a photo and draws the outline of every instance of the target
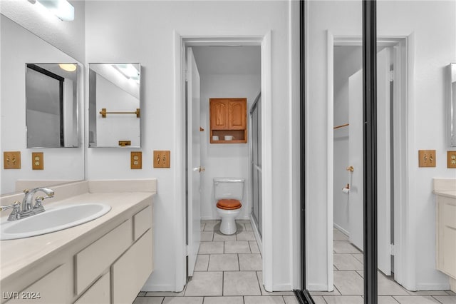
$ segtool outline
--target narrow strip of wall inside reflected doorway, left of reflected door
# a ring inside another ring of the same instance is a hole
[[[334,126],[348,123],[348,77],[363,66],[361,46],[337,46],[334,48]],[[350,182],[346,168],[348,163],[348,130],[350,126],[334,130],[334,183],[333,221],[343,232],[350,233],[348,222],[348,194],[342,188]]]

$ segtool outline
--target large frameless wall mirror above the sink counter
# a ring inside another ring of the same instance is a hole
[[[3,14],[0,22],[1,158],[6,151],[21,153],[21,168],[5,169],[1,163],[0,194],[23,190],[25,181],[32,181],[28,185],[52,186],[83,180],[85,145],[79,136],[84,113],[83,64]],[[77,69],[66,73],[55,63],[76,64]],[[63,83],[42,80],[43,73],[36,71],[41,69]],[[32,73],[39,74],[38,79],[29,77]],[[58,94],[63,96],[55,98],[60,83],[63,88]],[[48,98],[56,100],[41,103]],[[32,169],[33,152],[43,152],[43,170]]]

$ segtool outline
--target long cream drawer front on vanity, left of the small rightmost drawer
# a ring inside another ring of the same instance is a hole
[[[132,219],[129,218],[75,255],[77,295],[127,250],[133,241],[132,235]]]

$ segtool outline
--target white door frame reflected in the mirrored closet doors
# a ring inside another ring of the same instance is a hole
[[[395,66],[395,90],[394,99],[400,100],[400,103],[395,103],[394,113],[397,115],[393,116],[394,129],[394,163],[395,163],[395,186],[394,189],[394,219],[391,219],[391,223],[394,225],[394,265],[392,270],[394,271],[395,280],[404,285],[405,288],[409,287],[413,289],[414,282],[410,279],[414,277],[415,270],[410,265],[414,265],[414,258],[411,253],[413,248],[411,243],[408,242],[409,233],[409,221],[408,221],[408,210],[410,209],[409,203],[409,188],[408,188],[408,173],[407,168],[409,165],[409,147],[408,143],[410,136],[410,93],[412,93],[412,87],[410,86],[410,79],[413,79],[413,37],[410,34],[405,35],[383,35],[377,36],[377,45],[380,46],[392,46],[395,48],[394,61]],[[333,63],[333,48],[334,46],[362,46],[363,41],[361,36],[346,36],[343,34],[333,34],[331,31],[327,31],[327,248],[328,248],[328,291],[333,290],[333,120],[334,120],[334,109],[333,109],[333,77],[334,77],[334,63]]]

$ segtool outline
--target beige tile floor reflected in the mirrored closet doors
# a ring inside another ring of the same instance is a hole
[[[316,304],[363,304],[363,253],[334,230],[334,290],[311,291]],[[456,304],[450,290],[408,291],[392,278],[378,273],[379,304]]]

